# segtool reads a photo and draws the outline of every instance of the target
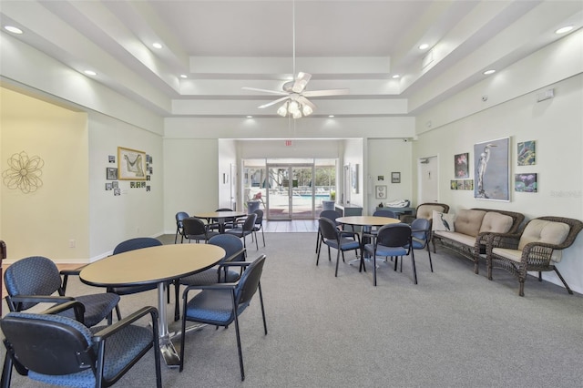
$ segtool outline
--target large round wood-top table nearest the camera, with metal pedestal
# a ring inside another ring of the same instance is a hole
[[[169,367],[179,367],[179,353],[169,336],[165,284],[207,270],[224,256],[225,250],[216,245],[160,245],[107,256],[84,267],[79,278],[97,287],[158,284],[160,352]]]

